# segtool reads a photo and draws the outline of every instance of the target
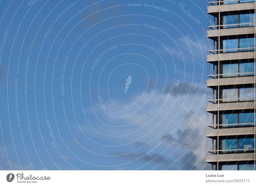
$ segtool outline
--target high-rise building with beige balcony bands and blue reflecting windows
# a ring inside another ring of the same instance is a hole
[[[255,170],[255,9],[256,0],[207,6],[206,162],[212,170]]]

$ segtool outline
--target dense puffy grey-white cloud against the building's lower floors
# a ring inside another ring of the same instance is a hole
[[[206,114],[197,115],[191,121],[192,114],[192,112],[189,112],[185,116],[185,120],[189,122],[186,128],[179,128],[175,134],[162,136],[167,140],[167,143],[175,146],[177,151],[184,152],[184,158],[180,159],[180,170],[202,170],[206,166],[204,158],[206,151]]]

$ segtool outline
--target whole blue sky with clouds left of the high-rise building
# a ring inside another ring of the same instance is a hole
[[[205,170],[207,4],[0,1],[0,168]]]

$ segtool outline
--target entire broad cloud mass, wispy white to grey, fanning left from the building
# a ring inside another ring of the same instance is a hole
[[[151,163],[148,165],[151,167],[155,166],[156,168],[154,169],[164,169],[168,167],[177,157],[182,155],[182,160],[173,166],[172,170],[203,169],[205,167],[204,155],[206,151],[206,114],[204,106],[201,107],[201,110],[193,120],[190,119],[196,111],[197,106],[202,103],[201,101],[203,98],[204,89],[201,88],[197,83],[191,84],[188,82],[180,82],[179,86],[175,87],[174,92],[172,92],[166,106],[163,106],[164,99],[166,98],[167,94],[166,91],[164,91],[164,94],[161,94],[159,91],[148,91],[145,92],[140,99],[140,95],[134,95],[129,102],[133,103],[134,100],[138,101],[132,107],[125,107],[122,109],[116,108],[111,102],[104,102],[107,110],[116,115],[132,113],[134,110],[138,110],[141,105],[147,103],[145,107],[139,109],[137,112],[132,114],[130,118],[126,118],[125,120],[115,120],[113,118],[109,118],[108,115],[102,112],[99,105],[94,105],[95,112],[98,114],[98,116],[101,116],[101,119],[106,122],[111,122],[111,124],[116,122],[124,125],[137,121],[131,126],[126,126],[123,128],[109,128],[104,125],[103,127],[99,124],[99,130],[102,130],[104,134],[108,135],[127,134],[138,130],[131,135],[115,138],[115,142],[120,142],[121,144],[134,141],[132,146],[129,147],[130,151],[118,151],[115,149],[110,150],[111,153],[109,154],[114,155],[119,159],[129,161],[132,160],[134,161],[134,164],[141,161],[145,162],[146,164],[151,161]],[[148,99],[148,97],[150,97],[150,99]],[[118,102],[123,102],[123,100],[118,101],[117,99],[114,101],[117,104]],[[206,99],[204,101],[206,101]],[[150,106],[152,105],[154,106],[150,110]],[[98,110],[97,106],[99,107]],[[94,121],[94,127],[96,128],[96,126],[96,122]],[[95,136],[95,138],[96,137],[97,136]],[[157,149],[157,151],[152,152],[151,154],[136,161],[137,157],[142,154],[146,154],[145,152],[153,148],[154,145],[164,138],[168,143],[165,142],[159,147],[159,149]],[[109,141],[111,140],[113,141],[113,139],[109,138]],[[144,146],[145,144],[147,145]],[[147,147],[147,149],[142,148],[143,146]]]

